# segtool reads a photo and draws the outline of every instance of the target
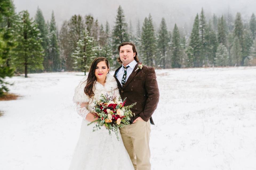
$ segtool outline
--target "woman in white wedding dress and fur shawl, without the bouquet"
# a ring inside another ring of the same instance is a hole
[[[113,91],[119,96],[117,82],[109,75],[108,60],[105,57],[95,58],[88,76],[81,80],[73,97],[77,112],[83,120],[70,170],[134,169],[120,133],[118,141],[115,134],[111,137],[105,128],[93,132],[95,124],[87,126],[95,120],[91,113],[95,99]]]

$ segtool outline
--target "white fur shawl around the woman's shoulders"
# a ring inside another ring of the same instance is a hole
[[[115,78],[112,75],[108,74],[106,78],[106,83],[104,86],[97,81],[95,82],[94,97],[89,98],[84,92],[84,88],[87,83],[86,79],[87,79],[87,76],[85,76],[81,80],[81,82],[78,84],[78,86],[75,88],[75,95],[73,97],[74,102],[76,103],[88,102],[91,104],[95,99],[100,99],[101,94],[103,95],[105,95],[106,93],[111,94],[111,92],[115,92],[117,96],[120,96]]]

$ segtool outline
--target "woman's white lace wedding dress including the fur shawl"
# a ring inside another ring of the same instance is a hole
[[[123,141],[119,132],[119,141],[115,133],[109,135],[108,130],[101,128],[93,132],[93,126],[87,126],[89,121],[85,120],[86,115],[91,111],[95,99],[100,99],[101,94],[106,94],[115,91],[119,96],[116,80],[113,76],[108,75],[106,78],[105,86],[96,82],[94,97],[89,97],[84,93],[86,85],[83,78],[75,89],[73,101],[76,103],[76,109],[79,115],[83,117],[80,137],[75,147],[73,158],[69,170],[85,170],[85,169],[134,169],[130,157],[123,145]],[[87,108],[82,108],[81,103],[88,102]]]

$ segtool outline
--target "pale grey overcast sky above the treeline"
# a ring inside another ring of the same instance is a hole
[[[251,14],[256,13],[255,0],[14,0],[14,4],[16,12],[28,10],[33,18],[38,6],[45,20],[50,20],[51,12],[54,11],[59,29],[63,21],[69,20],[74,14],[92,14],[100,23],[105,24],[107,20],[112,25],[119,5],[124,10],[127,23],[131,20],[134,29],[137,21],[142,23],[149,13],[157,26],[164,17],[169,30],[173,29],[174,23],[178,27],[183,27],[185,22],[193,24],[196,13],[202,7],[207,18],[213,13],[219,16],[228,9],[234,16],[241,12],[244,20],[249,20]]]

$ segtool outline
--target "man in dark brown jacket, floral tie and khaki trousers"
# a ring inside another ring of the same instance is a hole
[[[135,113],[131,125],[120,128],[123,144],[131,158],[134,169],[150,169],[150,123],[154,125],[152,114],[157,108],[159,90],[153,67],[139,63],[135,45],[124,42],[118,46],[117,61],[122,64],[114,74],[122,99]],[[150,122],[150,123],[149,123]]]

